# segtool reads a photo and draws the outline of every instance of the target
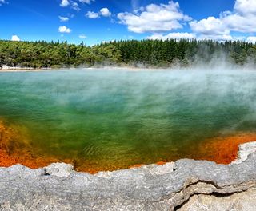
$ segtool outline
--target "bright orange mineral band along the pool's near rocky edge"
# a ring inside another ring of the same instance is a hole
[[[145,163],[129,164],[126,162],[118,165],[92,165],[90,161],[78,161],[72,158],[60,159],[58,157],[37,157],[30,146],[30,139],[26,137],[26,133],[15,129],[15,126],[6,125],[5,121],[0,121],[0,167],[10,167],[11,165],[21,164],[31,169],[43,168],[51,163],[66,162],[76,166],[76,170],[86,173],[98,173],[101,171],[115,171],[118,169],[139,168]],[[232,136],[214,137],[210,140],[203,141],[198,148],[196,154],[191,154],[190,159],[198,161],[214,161],[217,164],[230,164],[238,157],[238,146],[245,143],[250,143],[256,140],[256,133],[237,133]],[[155,161],[156,165],[165,165],[167,162],[177,161],[170,159],[163,161],[159,159]],[[77,165],[80,163],[79,165]]]

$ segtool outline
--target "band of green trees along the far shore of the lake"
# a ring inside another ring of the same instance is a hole
[[[244,65],[256,63],[256,45],[243,41],[124,40],[96,46],[67,42],[12,42],[0,40],[0,67],[60,68],[78,66],[190,66],[225,59]]]

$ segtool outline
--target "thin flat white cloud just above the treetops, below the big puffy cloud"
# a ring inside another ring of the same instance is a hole
[[[177,33],[169,33],[166,35],[163,34],[153,34],[148,39],[161,39],[161,40],[167,40],[167,39],[194,39],[196,38],[195,34],[187,33],[187,32],[177,32]]]

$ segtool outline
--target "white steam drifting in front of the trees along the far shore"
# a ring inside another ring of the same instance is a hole
[[[233,52],[234,53],[234,52]],[[254,49],[248,55],[239,53],[241,61],[236,63],[232,54],[229,51],[214,50],[211,51],[209,46],[201,44],[198,47],[196,53],[193,56],[189,52],[186,52],[184,60],[174,58],[171,63],[158,63],[157,65],[150,65],[144,62],[129,62],[129,63],[115,63],[113,61],[105,60],[99,63],[95,63],[93,66],[80,65],[74,68],[78,69],[135,69],[135,70],[255,70],[256,54]],[[234,53],[235,54],[235,53]],[[151,55],[154,58],[154,55]],[[242,58],[244,57],[244,58]]]

